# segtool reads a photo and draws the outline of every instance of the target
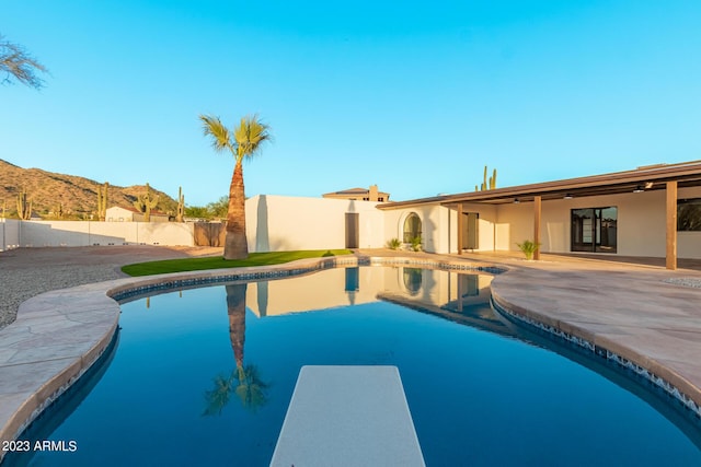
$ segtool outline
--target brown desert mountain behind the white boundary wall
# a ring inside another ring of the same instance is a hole
[[[106,180],[108,182],[108,180]],[[4,206],[5,217],[15,217],[18,194],[26,192],[32,200],[32,210],[44,219],[58,219],[56,212],[62,210],[61,219],[96,219],[97,187],[102,183],[74,175],[56,174],[39,168],[22,168],[0,159],[0,214]],[[177,202],[162,191],[150,188],[151,196],[158,195],[156,210],[175,212]],[[133,208],[137,196],[146,194],[146,185],[120,187],[110,185],[107,207]]]

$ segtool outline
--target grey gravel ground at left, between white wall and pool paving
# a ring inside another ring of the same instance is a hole
[[[133,262],[221,255],[221,248],[88,246],[18,248],[0,253],[0,328],[14,322],[20,303],[49,290],[123,278]]]

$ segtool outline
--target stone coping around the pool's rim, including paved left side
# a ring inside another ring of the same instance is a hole
[[[498,265],[497,261],[466,261],[461,258],[340,256],[275,266],[124,278],[46,292],[23,302],[18,319],[0,329],[0,440],[16,440],[97,361],[118,329],[119,303],[173,289],[371,265],[411,265],[487,273],[522,269],[515,265]],[[648,380],[653,384],[697,416],[701,415],[701,389],[674,369],[576,324],[519,306],[501,291],[498,281],[496,288],[493,284],[491,293],[498,311],[512,320],[568,340],[643,377],[652,375]],[[0,451],[0,462],[4,454]]]

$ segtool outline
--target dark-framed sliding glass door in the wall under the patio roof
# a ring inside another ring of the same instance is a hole
[[[616,253],[618,208],[572,210],[572,252]]]

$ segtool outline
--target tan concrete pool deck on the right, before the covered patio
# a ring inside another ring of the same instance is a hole
[[[701,416],[700,287],[697,270],[553,261],[499,276],[492,297],[516,322],[576,338]]]

